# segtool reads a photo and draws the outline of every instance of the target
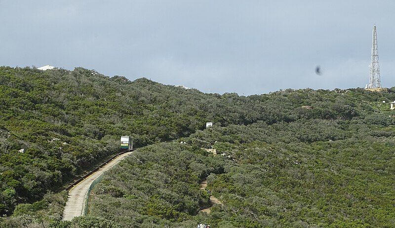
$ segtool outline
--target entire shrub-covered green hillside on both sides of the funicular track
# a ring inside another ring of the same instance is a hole
[[[0,213],[15,211],[25,224],[59,220],[65,194],[52,192],[118,153],[119,137],[131,135],[135,147],[151,146],[96,186],[85,220],[395,226],[395,94],[287,89],[244,97],[83,68],[10,67],[0,67],[0,91]],[[223,155],[201,149],[211,147]],[[199,213],[205,178],[223,202],[209,215]]]

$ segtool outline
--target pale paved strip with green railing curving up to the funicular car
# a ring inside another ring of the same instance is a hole
[[[74,217],[82,215],[83,213],[82,208],[84,207],[84,199],[86,198],[86,194],[88,192],[90,184],[92,184],[92,182],[96,180],[96,178],[98,178],[100,175],[102,175],[105,171],[111,169],[113,166],[118,164],[120,160],[125,158],[130,153],[132,152],[127,152],[119,155],[113,161],[108,163],[106,166],[101,168],[96,173],[93,173],[92,175],[87,177],[84,181],[80,182],[78,185],[76,185],[73,189],[69,191],[66,206],[63,211],[64,221],[70,221]]]

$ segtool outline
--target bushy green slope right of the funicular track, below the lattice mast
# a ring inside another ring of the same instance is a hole
[[[382,103],[394,95],[345,92],[250,96],[311,107],[138,150],[97,185],[89,215],[121,227],[394,227],[394,117]],[[205,177],[223,202],[209,215],[198,213]]]

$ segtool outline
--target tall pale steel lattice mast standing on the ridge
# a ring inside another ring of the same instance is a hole
[[[379,52],[377,50],[377,34],[376,25],[373,26],[372,38],[372,62],[370,63],[370,78],[368,88],[380,88],[380,66],[379,66]]]

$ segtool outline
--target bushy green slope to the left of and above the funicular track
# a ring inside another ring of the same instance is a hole
[[[252,121],[233,97],[82,68],[0,67],[0,213],[116,154],[121,135],[141,147],[188,136],[208,120]]]

